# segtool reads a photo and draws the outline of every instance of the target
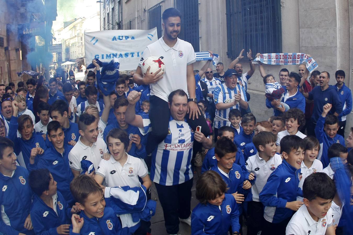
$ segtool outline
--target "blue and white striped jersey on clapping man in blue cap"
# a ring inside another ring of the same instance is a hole
[[[237,84],[237,86],[235,86],[234,89],[228,88],[225,83],[217,86],[213,94],[215,104],[234,102],[234,94],[236,94],[238,91],[240,91],[241,99],[247,101],[245,89],[243,86],[240,86],[239,84]],[[228,120],[228,116],[229,116],[229,111],[231,111],[232,109],[240,110],[239,103],[228,109],[223,109],[223,110],[216,109],[215,128],[219,129],[222,126],[231,125],[231,122],[229,122]]]

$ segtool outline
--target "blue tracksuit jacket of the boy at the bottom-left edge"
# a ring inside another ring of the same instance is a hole
[[[34,230],[25,229],[24,222],[30,213],[32,204],[32,190],[28,183],[28,171],[17,166],[12,177],[0,174],[0,205],[4,209],[8,222],[0,220],[0,233],[18,235],[34,234]],[[7,224],[11,224],[7,225]]]

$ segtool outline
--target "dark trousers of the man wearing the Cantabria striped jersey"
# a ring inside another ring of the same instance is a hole
[[[177,234],[179,218],[186,219],[191,214],[191,188],[193,179],[179,185],[155,184],[158,198],[161,202],[164,225],[168,234]]]

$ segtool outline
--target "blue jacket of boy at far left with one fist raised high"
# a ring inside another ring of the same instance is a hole
[[[19,155],[20,152],[22,152],[23,155],[23,161],[26,165],[26,167],[29,165],[29,158],[31,156],[31,150],[32,148],[40,147],[44,149],[44,151],[47,150],[47,146],[44,142],[44,139],[41,135],[37,135],[36,132],[32,133],[32,138],[29,140],[23,140],[22,138],[17,137],[17,129],[18,129],[18,123],[17,123],[18,117],[11,117],[10,120],[10,130],[8,132],[8,138],[13,141],[15,147],[14,147],[14,153],[16,155]],[[37,162],[37,157],[36,157],[36,162]]]

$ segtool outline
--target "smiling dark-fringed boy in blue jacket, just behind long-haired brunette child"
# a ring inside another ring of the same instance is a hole
[[[248,172],[243,172],[243,169],[234,163],[237,147],[227,137],[222,137],[216,142],[215,157],[217,164],[211,168],[212,171],[217,172],[222,179],[226,182],[228,190],[234,196],[238,203],[239,214],[242,215],[243,208],[241,203],[250,192],[251,183],[248,179],[254,179],[253,173],[249,175]],[[243,219],[240,216],[240,231],[242,231]]]

